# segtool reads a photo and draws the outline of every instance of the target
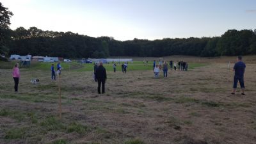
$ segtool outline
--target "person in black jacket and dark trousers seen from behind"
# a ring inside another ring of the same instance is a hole
[[[105,93],[105,82],[107,79],[106,69],[103,67],[102,61],[99,63],[99,67],[96,69],[95,77],[98,81],[98,93],[100,94],[100,85],[102,84],[102,93]]]

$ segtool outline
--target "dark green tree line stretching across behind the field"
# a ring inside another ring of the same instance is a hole
[[[1,3],[0,3],[1,4]],[[221,36],[163,38],[162,40],[118,41],[109,36],[94,38],[72,32],[43,31],[36,27],[10,29],[12,12],[2,5],[1,54],[31,54],[64,58],[107,58],[109,56],[237,56],[256,54],[256,29],[230,29]],[[2,19],[4,17],[4,19]],[[3,25],[3,26],[2,26]]]

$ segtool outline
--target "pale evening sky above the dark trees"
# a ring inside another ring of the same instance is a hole
[[[11,29],[35,26],[115,40],[221,36],[256,29],[255,0],[1,0]]]

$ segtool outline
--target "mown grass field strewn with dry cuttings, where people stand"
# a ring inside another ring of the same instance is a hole
[[[245,58],[244,97],[230,95],[234,73],[225,61],[232,58],[189,57],[188,71],[169,70],[166,78],[161,72],[159,79],[151,62],[129,64],[127,74],[105,65],[104,95],[97,94],[92,64],[61,63],[61,119],[51,63],[21,68],[15,93],[13,63],[0,62],[0,143],[255,144],[254,58]]]

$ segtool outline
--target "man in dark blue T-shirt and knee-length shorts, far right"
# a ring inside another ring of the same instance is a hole
[[[234,95],[236,93],[236,88],[237,88],[237,82],[239,81],[241,90],[242,90],[242,95],[244,94],[244,72],[245,72],[245,67],[246,65],[242,61],[242,56],[237,56],[237,63],[234,65],[233,71],[235,72],[234,76],[234,84],[233,84],[233,92],[231,93]]]

